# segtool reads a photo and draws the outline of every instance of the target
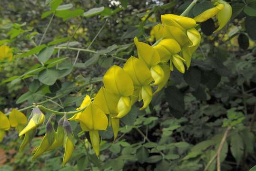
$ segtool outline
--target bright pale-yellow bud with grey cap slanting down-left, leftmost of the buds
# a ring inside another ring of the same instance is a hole
[[[40,111],[40,109],[38,107],[35,107],[32,110],[31,115],[29,117],[29,123],[22,131],[20,131],[19,136],[22,136],[23,134],[29,132],[30,130],[37,128],[39,125],[41,125],[44,122],[44,118],[45,116]]]

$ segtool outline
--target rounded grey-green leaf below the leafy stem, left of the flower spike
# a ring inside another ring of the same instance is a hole
[[[59,77],[59,71],[54,68],[47,68],[38,74],[38,79],[45,85],[53,85]]]

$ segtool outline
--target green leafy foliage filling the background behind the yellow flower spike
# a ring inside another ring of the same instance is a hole
[[[81,133],[66,167],[61,167],[62,149],[30,161],[31,151],[45,133],[41,126],[24,152],[18,152],[21,140],[15,130],[8,132],[0,144],[0,171],[203,171],[227,127],[231,130],[222,144],[221,170],[248,171],[256,165],[256,0],[228,2],[233,15],[222,31],[212,34],[212,20],[198,26],[202,42],[190,69],[184,75],[172,72],[167,87],[154,96],[145,111],[138,110],[139,104],[133,107],[121,119],[118,141],[112,142],[111,130],[101,132],[99,160],[86,139],[88,135]],[[51,100],[44,105],[51,109],[75,110],[86,94],[95,95],[109,66],[122,66],[120,58],[137,56],[135,36],[153,44],[150,31],[160,22],[161,14],[180,14],[190,3],[63,0],[62,4],[69,4],[68,11],[52,19],[42,45],[58,44],[61,48],[68,44],[94,52],[81,50],[77,56],[76,50],[53,48],[45,65],[55,70],[47,73],[40,65],[44,58],[38,59],[30,49],[40,44],[48,26],[52,16],[47,12],[49,6],[44,0],[1,0],[0,45],[13,48],[14,58],[0,61],[0,110],[7,113],[13,107],[47,99]],[[99,7],[105,8],[98,15],[82,17],[83,12]],[[188,16],[211,7],[210,1],[199,0]],[[30,112],[24,111],[27,116]],[[79,133],[79,125],[71,124],[74,133]],[[216,160],[208,170],[216,170]]]

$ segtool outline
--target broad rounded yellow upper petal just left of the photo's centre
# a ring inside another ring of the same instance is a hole
[[[133,94],[133,82],[120,66],[111,66],[103,77],[103,83],[115,95],[129,96]]]

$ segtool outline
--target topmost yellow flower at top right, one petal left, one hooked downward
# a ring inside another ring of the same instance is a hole
[[[216,6],[214,8],[204,11],[194,18],[197,22],[204,22],[216,15],[219,27],[214,31],[214,33],[221,30],[232,16],[232,8],[226,1],[216,0],[215,5]]]

